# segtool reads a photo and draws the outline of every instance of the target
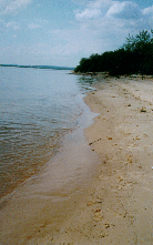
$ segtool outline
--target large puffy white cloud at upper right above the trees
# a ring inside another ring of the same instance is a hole
[[[133,1],[112,1],[112,0],[94,0],[90,1],[84,10],[75,13],[75,19],[81,25],[81,29],[98,30],[120,30],[121,33],[134,32],[141,29],[151,29],[153,8],[141,10]],[[147,16],[143,14],[147,13]],[[94,17],[94,18],[93,18]],[[121,30],[122,28],[122,30]],[[111,31],[110,31],[111,35]]]

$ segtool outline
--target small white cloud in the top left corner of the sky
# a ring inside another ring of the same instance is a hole
[[[1,0],[0,1],[0,9],[1,13],[12,13],[17,10],[27,7],[31,3],[31,0]]]

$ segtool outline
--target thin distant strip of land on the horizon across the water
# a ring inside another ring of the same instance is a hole
[[[7,68],[34,68],[34,69],[53,69],[53,70],[74,70],[74,68],[55,67],[55,65],[22,65],[22,64],[0,64]]]

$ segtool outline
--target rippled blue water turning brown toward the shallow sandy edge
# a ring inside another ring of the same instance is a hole
[[[88,80],[69,71],[0,68],[0,196],[42,169],[76,126]]]

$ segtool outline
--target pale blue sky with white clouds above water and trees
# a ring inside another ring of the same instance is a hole
[[[76,67],[153,29],[153,0],[0,0],[0,63]]]

